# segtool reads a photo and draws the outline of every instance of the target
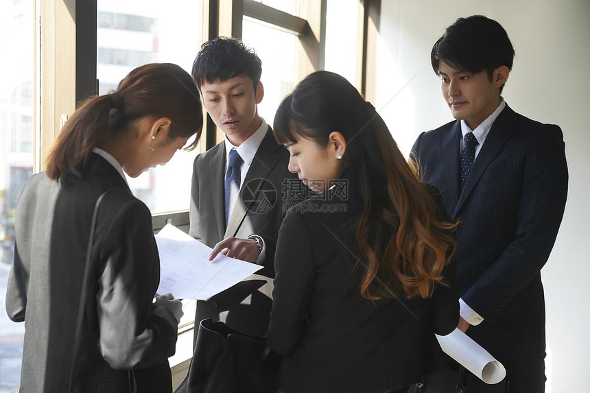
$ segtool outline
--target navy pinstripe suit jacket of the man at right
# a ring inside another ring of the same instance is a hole
[[[484,321],[467,334],[499,361],[545,355],[541,267],[561,224],[567,164],[558,126],[508,106],[497,117],[464,189],[459,184],[460,121],[418,136],[421,179],[459,219],[458,295]]]

